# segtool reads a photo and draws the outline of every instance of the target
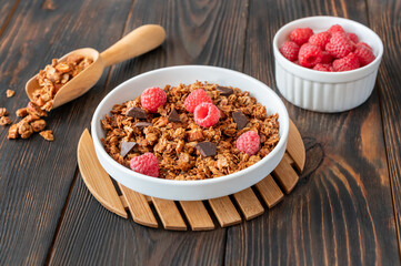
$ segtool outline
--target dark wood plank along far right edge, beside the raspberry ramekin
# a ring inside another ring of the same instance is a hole
[[[370,27],[379,34],[384,44],[384,54],[378,74],[378,88],[401,249],[401,55],[399,49],[401,1],[370,0],[368,4]]]

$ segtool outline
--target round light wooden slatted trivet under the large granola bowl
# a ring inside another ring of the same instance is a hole
[[[121,184],[118,184],[122,194],[119,195],[96,156],[88,130],[82,133],[78,144],[78,164],[82,178],[88,190],[107,209],[124,218],[128,218],[128,209],[136,223],[154,228],[159,227],[156,217],[158,216],[166,229],[174,231],[186,231],[187,225],[192,231],[214,229],[215,224],[211,215],[217,218],[221,227],[227,227],[242,222],[240,213],[245,221],[263,214],[264,207],[260,201],[263,201],[268,208],[279,203],[284,197],[284,193],[289,194],[297,185],[304,162],[305,150],[301,135],[290,121],[288,145],[282,161],[271,175],[253,186],[254,190],[249,187],[231,197],[223,196],[203,202],[174,202],[149,197]],[[152,211],[151,205],[156,212]]]

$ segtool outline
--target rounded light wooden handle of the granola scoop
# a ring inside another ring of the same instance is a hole
[[[103,59],[104,66],[112,65],[153,50],[164,41],[164,38],[166,31],[161,25],[141,25],[100,55]]]

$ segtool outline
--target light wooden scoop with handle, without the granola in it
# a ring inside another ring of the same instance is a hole
[[[146,24],[134,29],[102,53],[92,48],[82,48],[63,55],[59,61],[66,60],[71,54],[77,54],[92,59],[93,63],[57,92],[52,108],[58,108],[89,91],[98,82],[106,66],[149,52],[159,47],[164,38],[166,31],[161,25]],[[39,88],[37,75],[27,82],[26,91],[31,101],[33,101],[33,92]]]

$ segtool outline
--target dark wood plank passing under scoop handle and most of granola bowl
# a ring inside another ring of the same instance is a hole
[[[208,3],[159,1],[158,4],[146,0],[134,1],[126,33],[143,23],[160,23],[166,28],[167,41],[162,48],[113,68],[104,91],[110,91],[131,76],[168,65],[198,63],[241,70],[247,12],[247,2],[240,0]],[[81,194],[88,195],[88,192],[84,187],[74,186],[51,252],[51,265],[64,263],[67,258],[72,265],[86,262],[116,265],[223,263],[224,228],[186,233],[164,231],[161,226],[152,229],[139,226],[130,218],[116,219],[113,215],[104,213],[100,204],[88,205],[89,202],[80,201]],[[92,221],[96,219],[91,217],[93,213],[101,219],[98,224]],[[77,222],[71,222],[76,219],[82,223],[78,227]],[[81,231],[88,226],[92,226],[91,232]],[[114,227],[119,229],[114,231]],[[98,259],[99,254],[102,257],[107,254],[108,258],[104,262]]]

